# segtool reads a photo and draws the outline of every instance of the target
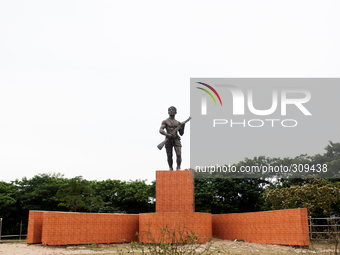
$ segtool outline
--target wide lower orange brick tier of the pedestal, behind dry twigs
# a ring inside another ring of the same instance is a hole
[[[212,217],[210,213],[141,213],[139,233],[144,243],[183,242],[188,234],[207,242],[212,236]]]

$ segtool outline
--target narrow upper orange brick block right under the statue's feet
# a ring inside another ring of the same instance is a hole
[[[156,212],[194,212],[193,171],[156,171]]]

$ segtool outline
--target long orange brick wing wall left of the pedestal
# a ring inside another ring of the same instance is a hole
[[[138,215],[68,212],[43,212],[42,215],[41,240],[33,228],[29,228],[28,243],[67,245],[137,241]],[[37,224],[35,226],[38,228]]]

